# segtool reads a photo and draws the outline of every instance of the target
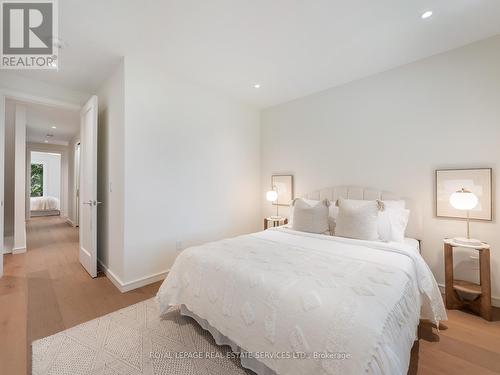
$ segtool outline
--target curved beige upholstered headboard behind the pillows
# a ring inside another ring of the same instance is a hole
[[[332,202],[337,201],[339,198],[360,200],[404,200],[406,202],[406,207],[410,210],[410,219],[408,221],[406,235],[417,239],[422,238],[421,233],[423,224],[419,208],[414,206],[410,199],[402,198],[398,194],[359,186],[335,186],[303,194],[302,197],[315,200],[328,199]]]

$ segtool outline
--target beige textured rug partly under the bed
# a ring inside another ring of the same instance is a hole
[[[253,374],[178,309],[160,318],[154,299],[32,345],[35,375]]]

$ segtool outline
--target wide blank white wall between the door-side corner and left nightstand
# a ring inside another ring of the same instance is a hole
[[[177,247],[260,228],[257,110],[142,55],[125,60],[125,108],[125,281],[163,274]]]

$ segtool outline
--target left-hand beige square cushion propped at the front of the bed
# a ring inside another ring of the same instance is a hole
[[[292,202],[292,229],[301,232],[329,234],[328,207],[330,201],[310,201],[302,198]]]

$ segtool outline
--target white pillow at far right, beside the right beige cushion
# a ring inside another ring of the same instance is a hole
[[[384,201],[384,211],[379,213],[378,232],[382,241],[404,242],[410,210],[404,201]]]

